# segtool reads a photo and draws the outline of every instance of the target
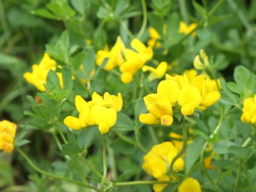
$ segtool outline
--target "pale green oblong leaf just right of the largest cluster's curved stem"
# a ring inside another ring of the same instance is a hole
[[[186,173],[189,172],[191,167],[195,164],[204,146],[203,138],[196,138],[187,149],[185,157]]]

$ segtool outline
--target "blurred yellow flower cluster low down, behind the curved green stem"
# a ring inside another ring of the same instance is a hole
[[[177,155],[177,153],[178,149],[172,145],[172,142],[166,141],[155,145],[151,148],[149,153],[143,157],[144,163],[142,168],[159,181],[169,181],[170,177],[167,173],[170,170],[172,159]],[[179,157],[173,165],[173,170],[178,172],[183,169],[184,161]],[[162,191],[166,186],[166,184],[157,184],[154,185],[154,190]]]

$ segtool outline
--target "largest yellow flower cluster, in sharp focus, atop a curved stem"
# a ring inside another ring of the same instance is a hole
[[[140,122],[168,126],[173,122],[173,108],[178,108],[185,116],[192,115],[195,109],[205,110],[220,99],[218,91],[207,92],[205,78],[198,75],[189,81],[186,74],[171,76],[157,86],[157,93],[144,97],[148,114],[141,114]]]

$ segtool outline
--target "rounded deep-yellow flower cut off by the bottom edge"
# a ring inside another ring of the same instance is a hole
[[[201,186],[196,179],[187,178],[178,187],[178,192],[201,192]]]

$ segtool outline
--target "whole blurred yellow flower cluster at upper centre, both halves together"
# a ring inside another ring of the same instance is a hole
[[[109,58],[104,69],[113,70],[119,66],[119,70],[122,73],[121,81],[123,83],[130,83],[137,71],[153,57],[152,48],[150,46],[146,47],[139,39],[135,38],[132,40],[131,48],[133,50],[125,49],[122,39],[117,37],[117,41],[110,51],[108,51],[108,48],[105,48],[105,50],[97,52],[97,65],[102,65],[103,60]]]

